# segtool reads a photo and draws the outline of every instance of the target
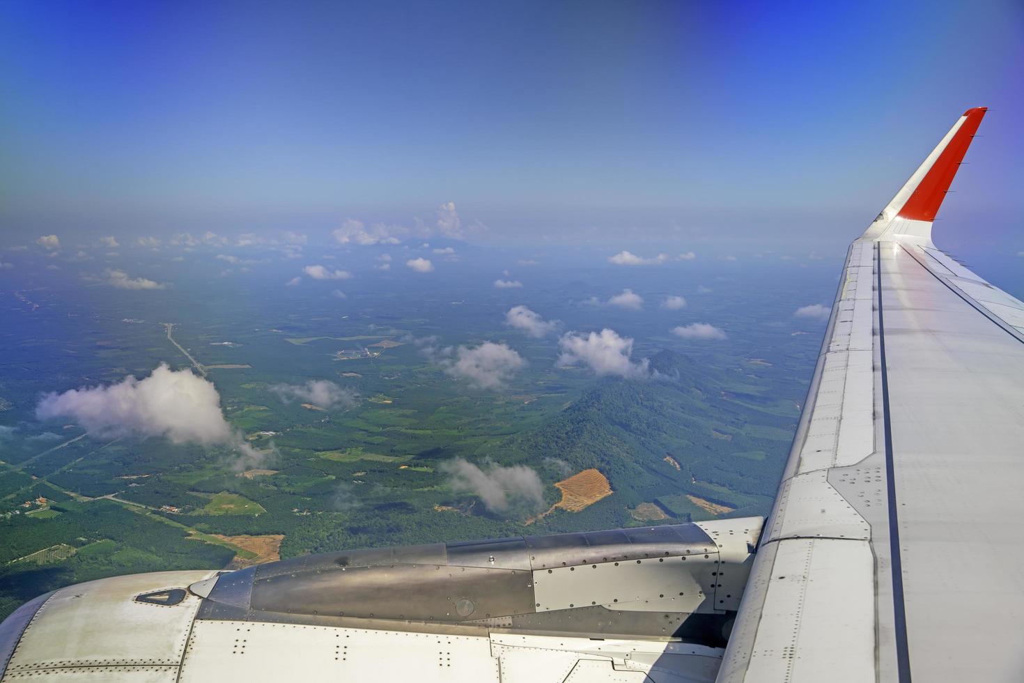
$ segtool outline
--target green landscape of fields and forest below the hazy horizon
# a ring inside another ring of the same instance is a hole
[[[502,323],[516,299],[483,291],[462,303],[460,283],[417,298],[365,285],[340,302],[225,294],[199,312],[181,290],[159,293],[157,309],[148,293],[23,293],[35,308],[5,293],[17,325],[0,330],[0,616],[118,573],[766,514],[819,339],[817,324],[788,319],[799,295],[778,302],[722,284],[667,323],[653,305],[580,303],[599,287],[586,272],[545,278],[530,306],[557,318],[558,334],[628,334],[642,376],[563,361],[557,335]],[[651,301],[676,289],[668,278],[648,287]],[[752,296],[760,309],[742,305]],[[179,321],[170,334],[166,319]],[[728,338],[669,334],[689,319],[715,321]],[[488,341],[523,362],[481,387],[450,358]],[[161,362],[215,386],[244,449],[35,413],[47,392],[144,378]],[[295,388],[308,382],[328,382],[331,400]],[[500,500],[460,478],[467,468],[498,481]],[[612,493],[557,507],[555,483],[589,469]]]

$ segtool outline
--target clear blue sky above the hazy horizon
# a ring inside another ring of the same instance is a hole
[[[1014,0],[8,0],[0,243],[454,201],[481,242],[845,245],[984,104],[941,215],[1017,251],[1022,83]]]

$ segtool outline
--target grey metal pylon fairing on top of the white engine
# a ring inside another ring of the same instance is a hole
[[[721,645],[762,523],[743,518],[327,553],[226,572],[194,592],[206,598],[200,620]]]

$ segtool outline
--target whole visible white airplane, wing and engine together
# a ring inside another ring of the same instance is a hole
[[[1024,304],[931,241],[984,112],[851,245],[767,523],[103,579],[0,624],[0,680],[1020,680]]]

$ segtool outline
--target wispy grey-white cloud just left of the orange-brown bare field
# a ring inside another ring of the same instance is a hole
[[[481,468],[457,458],[441,463],[438,469],[449,475],[447,485],[454,492],[477,496],[492,512],[529,513],[544,509],[541,477],[524,465],[503,467],[484,462]]]

